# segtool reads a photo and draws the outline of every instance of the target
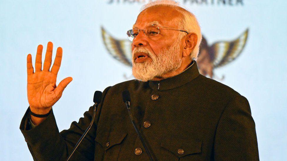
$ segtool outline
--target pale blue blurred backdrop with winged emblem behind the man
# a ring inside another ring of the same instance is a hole
[[[27,107],[26,56],[37,45],[63,48],[57,83],[73,81],[53,106],[59,130],[93,105],[93,94],[134,79],[132,28],[149,0],[0,1],[1,160],[32,160],[19,130]],[[178,0],[198,18],[204,36],[201,73],[245,96],[256,123],[261,160],[287,154],[287,1]],[[44,60],[44,57],[43,57]],[[208,70],[211,69],[211,70]],[[209,72],[208,72],[209,71]]]

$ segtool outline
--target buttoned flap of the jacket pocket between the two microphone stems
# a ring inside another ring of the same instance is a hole
[[[100,143],[106,150],[113,147],[114,145],[121,144],[126,137],[127,133],[119,133],[117,131],[112,132],[101,132],[95,138],[95,141]]]

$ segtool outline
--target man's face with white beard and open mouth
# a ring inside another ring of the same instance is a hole
[[[147,37],[146,30],[153,23],[158,26],[178,29],[180,13],[167,6],[150,7],[142,11],[133,28],[140,29],[132,43],[133,75],[142,81],[173,72],[181,66],[182,50],[179,31],[159,28],[156,37]]]

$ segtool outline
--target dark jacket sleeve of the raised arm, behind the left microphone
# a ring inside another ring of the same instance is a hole
[[[106,88],[103,92],[102,100],[109,90]],[[95,122],[90,131],[87,133],[77,150],[74,152],[71,160],[93,160],[94,145],[96,137],[97,122],[100,115],[102,103],[99,104],[96,111]],[[80,139],[81,135],[89,126],[93,116],[94,106],[84,113],[84,118],[79,122],[73,121],[68,130],[59,132],[54,117],[53,109],[50,115],[41,124],[35,128],[29,129],[29,109],[27,109],[20,124],[20,130],[24,135],[28,148],[34,160],[66,160],[74,146]]]

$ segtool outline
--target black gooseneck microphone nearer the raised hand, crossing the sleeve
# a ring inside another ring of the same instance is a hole
[[[94,113],[93,113],[92,121],[91,121],[90,125],[88,126],[88,128],[86,129],[86,131],[81,136],[81,138],[79,139],[78,143],[76,143],[71,155],[68,157],[68,159],[66,161],[70,160],[71,156],[74,154],[74,152],[76,151],[76,149],[78,148],[78,146],[80,145],[80,143],[82,142],[84,137],[87,135],[87,133],[91,129],[91,127],[92,127],[92,125],[94,123],[94,120],[95,120],[97,107],[98,107],[99,103],[101,102],[101,99],[102,99],[102,92],[101,91],[95,91],[95,93],[94,93],[94,100],[93,100],[95,104],[94,104]]]

